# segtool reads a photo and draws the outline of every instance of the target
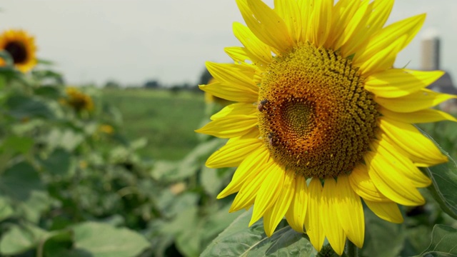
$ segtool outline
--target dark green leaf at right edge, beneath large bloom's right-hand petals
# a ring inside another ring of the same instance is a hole
[[[431,178],[428,187],[431,195],[449,216],[457,219],[457,166],[456,162],[443,149],[449,161],[436,166],[422,168]]]

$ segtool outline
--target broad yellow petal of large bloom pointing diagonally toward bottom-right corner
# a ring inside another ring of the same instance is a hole
[[[380,153],[368,152],[364,156],[368,175],[384,196],[404,206],[418,206],[425,203],[421,193],[402,173],[396,171]]]

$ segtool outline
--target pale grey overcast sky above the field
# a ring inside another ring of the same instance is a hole
[[[196,84],[205,61],[231,62],[224,47],[241,46],[232,32],[233,21],[243,23],[235,0],[2,0],[0,9],[0,30],[34,35],[37,56],[74,85]],[[420,69],[421,38],[438,34],[441,69],[456,84],[456,11],[456,0],[396,0],[387,24],[427,13],[396,66]]]

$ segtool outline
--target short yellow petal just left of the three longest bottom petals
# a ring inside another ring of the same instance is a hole
[[[298,174],[295,180],[295,193],[291,206],[289,206],[286,213],[286,219],[291,228],[303,233],[303,223],[305,222],[306,208],[308,207],[308,186],[304,176]]]

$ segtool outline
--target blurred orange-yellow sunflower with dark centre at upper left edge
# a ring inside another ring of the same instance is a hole
[[[7,51],[19,71],[30,71],[36,65],[34,37],[26,31],[9,29],[0,35],[0,49]],[[0,66],[4,66],[0,59]]]

